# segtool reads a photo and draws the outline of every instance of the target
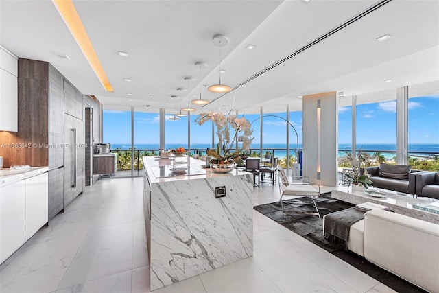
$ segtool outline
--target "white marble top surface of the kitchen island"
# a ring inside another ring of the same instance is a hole
[[[210,168],[206,168],[205,166],[206,161],[193,159],[191,157],[189,157],[188,161],[187,156],[171,156],[169,159],[161,159],[156,156],[143,156],[143,168],[145,172],[147,172],[151,183],[250,174],[242,169],[234,169],[232,172],[225,174],[214,173]],[[174,167],[175,169],[187,168],[187,172],[172,172]]]

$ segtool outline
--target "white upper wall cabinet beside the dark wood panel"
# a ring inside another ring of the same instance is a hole
[[[18,60],[0,46],[0,130],[18,131]]]

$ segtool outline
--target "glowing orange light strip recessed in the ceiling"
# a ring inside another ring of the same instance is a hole
[[[88,34],[84,28],[84,25],[82,25],[82,21],[75,9],[75,5],[73,5],[73,2],[71,0],[52,0],[52,2],[54,3],[56,9],[58,9],[58,12],[60,13],[67,27],[69,27],[73,38],[75,38],[76,43],[78,43],[80,46],[82,53],[84,53],[88,63],[90,63],[93,71],[95,71],[97,78],[99,78],[99,81],[104,86],[105,90],[113,92],[112,86],[108,81],[104,69],[102,68],[101,62],[99,62],[99,58],[97,58],[95,49],[91,44],[90,38],[88,38]]]

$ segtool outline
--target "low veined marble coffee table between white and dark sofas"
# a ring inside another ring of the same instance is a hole
[[[375,198],[366,194],[364,191],[352,191],[351,187],[339,187],[333,189],[331,191],[331,196],[337,200],[351,202],[351,204],[361,204],[363,202],[381,204],[389,207],[389,211],[424,220],[426,222],[439,224],[439,215],[437,213],[430,213],[428,211],[413,208],[413,204],[416,203],[429,204],[431,202],[439,202],[438,200],[434,200],[433,198],[412,198],[411,196],[397,194],[394,191],[381,190],[382,194],[388,195],[386,198]]]

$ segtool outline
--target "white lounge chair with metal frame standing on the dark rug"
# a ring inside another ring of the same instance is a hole
[[[305,213],[307,215],[318,215],[320,217],[320,212],[318,211],[318,207],[316,204],[316,199],[320,196],[320,185],[311,185],[309,183],[303,182],[303,180],[308,179],[308,177],[303,176],[301,183],[290,183],[287,174],[285,174],[285,170],[282,167],[278,166],[278,183],[279,183],[279,191],[281,193],[281,198],[279,198],[279,202],[281,203],[282,213],[283,213],[283,196],[309,196],[311,200],[309,202],[304,202],[304,204],[313,204],[316,208],[316,213],[313,212],[294,212],[294,213]]]

